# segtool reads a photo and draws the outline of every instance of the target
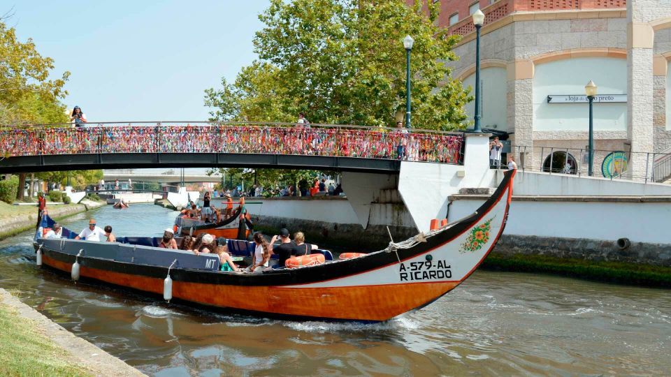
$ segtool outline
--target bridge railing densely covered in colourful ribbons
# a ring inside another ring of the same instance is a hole
[[[107,153],[342,156],[461,163],[462,133],[361,126],[180,122],[0,129],[5,157]],[[0,156],[1,157],[1,156]]]

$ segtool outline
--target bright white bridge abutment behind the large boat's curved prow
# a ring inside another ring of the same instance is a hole
[[[467,133],[462,165],[401,162],[398,191],[415,226],[426,232],[431,219],[447,219],[447,198],[461,188],[496,186],[489,169],[489,133]],[[349,195],[349,193],[347,193]]]

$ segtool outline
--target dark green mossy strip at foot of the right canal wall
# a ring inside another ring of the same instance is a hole
[[[540,272],[613,283],[671,288],[671,267],[654,265],[528,254],[503,256],[491,253],[482,263],[482,267],[499,271]]]

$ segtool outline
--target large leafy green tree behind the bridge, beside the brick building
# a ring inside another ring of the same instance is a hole
[[[438,3],[403,0],[271,0],[254,37],[259,60],[235,82],[205,91],[212,120],[295,121],[389,126],[405,112],[406,34],[412,48],[416,128],[465,126],[470,101],[445,61],[459,36],[435,26]]]

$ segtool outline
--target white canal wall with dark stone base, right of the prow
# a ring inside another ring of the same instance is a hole
[[[449,220],[485,198],[452,195]],[[671,196],[514,195],[496,253],[671,267],[669,219]]]

